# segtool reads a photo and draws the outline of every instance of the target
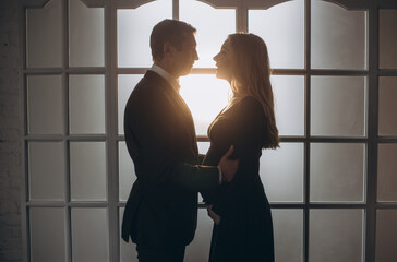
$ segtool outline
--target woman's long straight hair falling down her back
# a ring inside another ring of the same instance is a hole
[[[253,96],[261,102],[266,117],[267,140],[263,148],[279,146],[278,129],[274,111],[274,97],[270,84],[270,67],[265,41],[254,35],[236,33],[228,36],[234,53],[233,97]]]

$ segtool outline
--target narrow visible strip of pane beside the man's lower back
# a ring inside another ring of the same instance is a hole
[[[119,142],[119,198],[127,201],[130,195],[132,183],[135,182],[136,175],[134,163],[132,162],[124,141]]]

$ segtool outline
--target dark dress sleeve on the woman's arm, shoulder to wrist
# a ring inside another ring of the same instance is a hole
[[[216,192],[208,193],[208,202],[215,213],[222,215],[230,206],[253,190],[256,181],[258,152],[263,144],[265,116],[262,104],[253,97],[245,97],[232,108],[213,130],[216,143],[209,148],[207,157],[224,155],[230,145],[234,145],[232,158],[240,159],[240,167],[230,183],[218,187]],[[205,162],[204,162],[205,163]]]

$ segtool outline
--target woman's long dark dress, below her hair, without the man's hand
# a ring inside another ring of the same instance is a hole
[[[240,159],[230,183],[202,192],[221,222],[214,226],[210,262],[274,262],[270,207],[260,178],[262,145],[268,138],[262,104],[246,96],[220,112],[208,128],[204,165],[218,165],[230,145]]]

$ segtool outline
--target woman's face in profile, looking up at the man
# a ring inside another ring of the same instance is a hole
[[[220,51],[213,59],[217,68],[216,76],[230,82],[233,76],[234,52],[229,39],[224,43]]]

